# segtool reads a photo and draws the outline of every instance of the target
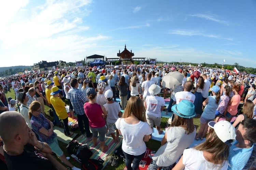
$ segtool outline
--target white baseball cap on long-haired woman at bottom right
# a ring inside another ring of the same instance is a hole
[[[232,146],[232,142],[236,140],[236,129],[234,126],[225,120],[215,122],[209,122],[208,125],[214,129],[216,135],[221,141],[229,146]]]

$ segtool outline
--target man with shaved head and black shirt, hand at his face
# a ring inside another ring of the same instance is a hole
[[[66,169],[51,155],[48,144],[37,140],[20,113],[6,111],[0,114],[0,136],[9,170]]]

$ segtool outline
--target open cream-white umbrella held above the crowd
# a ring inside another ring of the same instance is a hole
[[[184,78],[184,75],[180,72],[170,72],[162,79],[162,86],[165,86],[169,89],[173,88],[173,86],[180,85],[182,83],[182,80]]]

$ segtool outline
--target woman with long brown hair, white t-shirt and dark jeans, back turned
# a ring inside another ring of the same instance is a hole
[[[143,102],[138,96],[130,97],[122,118],[119,118],[115,125],[124,137],[122,150],[125,155],[125,165],[128,170],[137,170],[145,155],[145,142],[150,139],[152,134],[152,129],[146,122]]]

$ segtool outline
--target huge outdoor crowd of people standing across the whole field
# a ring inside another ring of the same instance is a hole
[[[170,72],[184,78],[168,89],[162,82]],[[117,143],[122,135],[125,165],[138,169],[154,125],[163,133],[161,112],[170,94],[165,111],[172,112],[170,127],[149,170],[256,169],[255,78],[224,69],[155,65],[69,67],[6,77],[0,84],[0,158],[8,169],[66,169],[53,158],[54,152],[63,164],[79,169],[69,162],[53,132],[54,125],[63,126],[66,136],[73,135],[63,102],[67,99],[70,117],[76,114],[85,138],[96,146],[99,136],[105,152],[105,136],[111,134]],[[5,96],[11,89],[15,99]],[[53,121],[45,105],[53,110]],[[200,118],[197,134],[195,117]],[[116,166],[118,159],[111,156],[109,163]]]

